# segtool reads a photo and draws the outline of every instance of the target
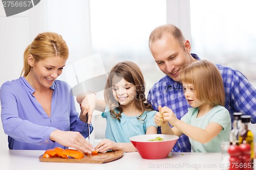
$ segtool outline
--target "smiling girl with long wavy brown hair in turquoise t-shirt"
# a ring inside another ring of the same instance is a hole
[[[103,112],[102,117],[106,118],[105,139],[95,147],[96,151],[134,152],[136,149],[130,137],[157,134],[156,111],[146,102],[144,78],[134,62],[124,61],[113,66],[105,86],[104,100],[96,99],[94,94],[84,96],[77,96],[82,113],[92,115],[95,109]]]

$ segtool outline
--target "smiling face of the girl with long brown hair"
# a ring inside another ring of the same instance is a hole
[[[115,100],[120,105],[134,104],[136,99],[136,88],[134,84],[127,82],[119,76],[114,76],[112,79],[112,91]]]

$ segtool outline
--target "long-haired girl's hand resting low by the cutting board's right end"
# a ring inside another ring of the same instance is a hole
[[[97,144],[97,146],[95,147],[95,150],[98,152],[105,152],[108,150],[117,151],[119,150],[119,148],[118,148],[118,143],[109,139],[103,139],[99,142],[99,144]]]

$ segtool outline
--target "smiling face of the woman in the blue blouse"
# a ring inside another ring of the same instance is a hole
[[[50,88],[54,80],[62,74],[67,59],[59,56],[48,57],[38,62],[33,62],[30,70],[34,81],[32,85]]]

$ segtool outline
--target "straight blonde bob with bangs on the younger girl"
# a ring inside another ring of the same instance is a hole
[[[212,106],[225,104],[225,91],[218,67],[207,60],[193,62],[186,66],[180,74],[182,83],[194,86],[196,98],[206,101]]]

